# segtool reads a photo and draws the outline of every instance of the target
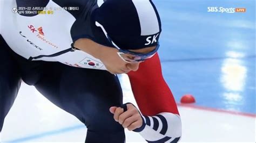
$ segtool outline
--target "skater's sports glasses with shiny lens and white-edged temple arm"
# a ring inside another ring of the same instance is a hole
[[[109,37],[109,35],[107,34],[105,28],[99,24],[98,22],[96,22],[96,26],[102,28],[102,31],[104,32],[106,38],[111,42],[111,44],[116,47],[118,49],[118,52],[117,54],[119,55],[119,57],[124,60],[125,62],[128,62],[128,63],[138,63],[138,62],[143,62],[147,59],[150,59],[152,58],[152,56],[154,56],[157,51],[158,51],[158,48],[159,48],[159,42],[157,42],[157,46],[156,48],[149,52],[149,53],[137,53],[137,52],[132,52],[132,51],[129,51],[127,49],[121,49],[119,48],[116,44],[114,44],[114,42],[112,41],[112,39]]]

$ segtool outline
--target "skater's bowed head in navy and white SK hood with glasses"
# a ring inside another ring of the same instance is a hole
[[[99,6],[92,12],[93,34],[118,49],[120,58],[137,63],[157,52],[161,22],[151,0],[107,0]]]

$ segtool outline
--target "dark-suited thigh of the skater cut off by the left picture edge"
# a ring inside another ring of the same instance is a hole
[[[21,76],[10,47],[0,35],[0,132],[21,85]]]

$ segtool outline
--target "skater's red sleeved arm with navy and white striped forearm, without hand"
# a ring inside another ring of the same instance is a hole
[[[177,142],[181,137],[181,120],[172,92],[161,73],[158,54],[128,75],[144,118],[144,125],[135,131],[147,141]]]

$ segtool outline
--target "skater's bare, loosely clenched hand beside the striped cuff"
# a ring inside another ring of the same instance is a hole
[[[139,128],[143,124],[142,116],[138,109],[132,104],[126,104],[127,111],[124,112],[123,108],[112,106],[109,110],[114,115],[114,120],[118,121],[124,128],[132,131]]]

